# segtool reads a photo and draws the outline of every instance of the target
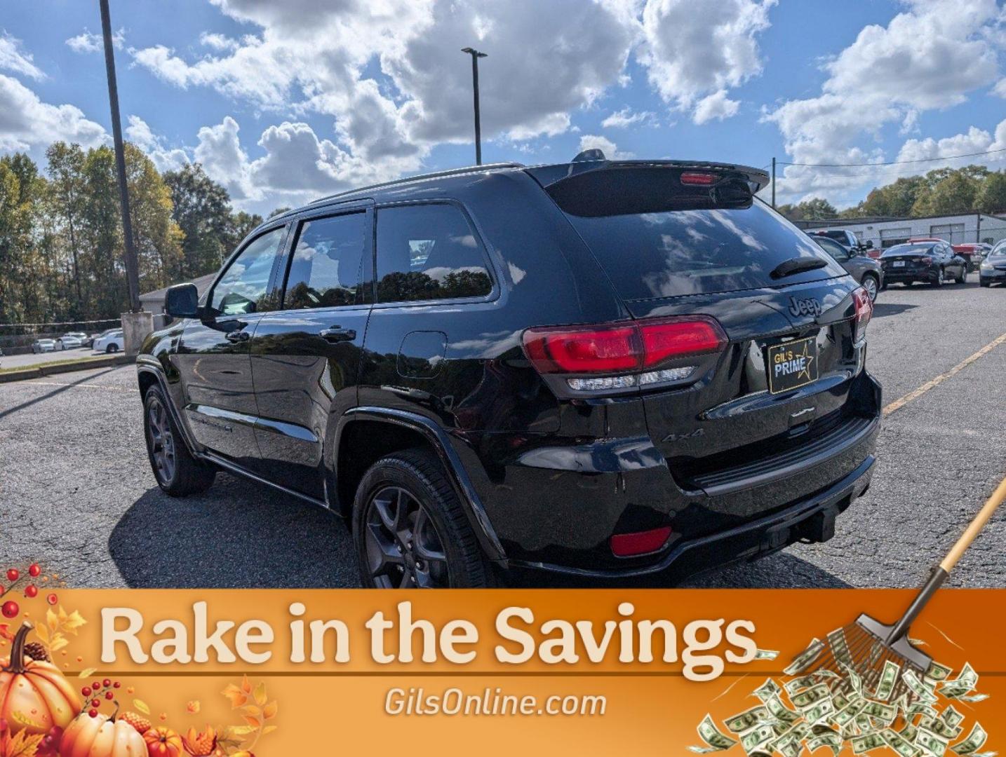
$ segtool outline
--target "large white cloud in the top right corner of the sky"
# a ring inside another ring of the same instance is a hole
[[[886,26],[864,27],[824,64],[829,76],[819,96],[764,112],[794,162],[882,162],[882,151],[860,146],[864,137],[877,138],[889,124],[910,132],[921,113],[959,105],[998,77],[996,0],[909,0],[905,6]],[[788,166],[779,188],[787,198],[810,191],[834,196],[866,183],[868,173],[864,167]]]

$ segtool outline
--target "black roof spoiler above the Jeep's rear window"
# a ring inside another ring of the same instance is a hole
[[[757,168],[703,161],[588,159],[525,171],[564,212],[584,217],[745,208],[769,183]]]

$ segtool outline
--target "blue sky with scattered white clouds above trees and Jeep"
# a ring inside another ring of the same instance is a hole
[[[0,153],[108,140],[97,0],[0,0]],[[581,147],[766,166],[781,200],[839,206],[942,165],[1006,158],[997,0],[112,0],[130,139],[162,169],[199,160],[236,206],[483,158]]]

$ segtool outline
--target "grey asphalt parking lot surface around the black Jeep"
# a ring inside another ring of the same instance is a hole
[[[884,402],[1006,334],[1006,288],[895,287],[869,326]],[[888,405],[889,406],[889,405]],[[154,483],[132,366],[0,384],[0,562],[71,586],[353,586],[341,521],[224,474],[173,500]],[[831,541],[693,577],[704,587],[914,586],[1006,476],[1006,340],[884,419],[873,485]],[[1006,586],[1006,512],[951,583]]]

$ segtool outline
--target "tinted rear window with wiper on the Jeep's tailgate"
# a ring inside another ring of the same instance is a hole
[[[804,232],[757,199],[746,207],[566,217],[626,300],[752,290],[845,274]],[[772,278],[777,265],[798,255],[821,257],[830,265]]]

